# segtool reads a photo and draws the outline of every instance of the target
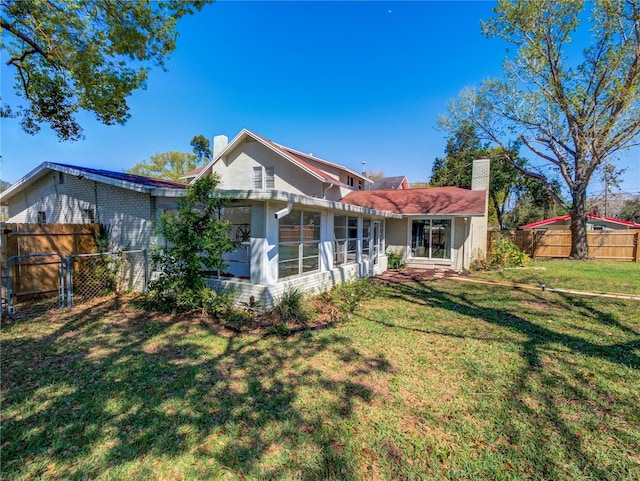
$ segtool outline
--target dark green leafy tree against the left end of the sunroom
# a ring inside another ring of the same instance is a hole
[[[177,211],[161,216],[158,232],[166,247],[152,252],[160,275],[150,283],[152,305],[164,310],[217,311],[228,307],[228,299],[205,285],[203,270],[226,268],[223,254],[234,248],[231,224],[220,221],[225,198],[216,193],[217,176],[198,179],[187,188]]]

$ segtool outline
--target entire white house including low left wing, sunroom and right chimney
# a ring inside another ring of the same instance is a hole
[[[388,250],[409,265],[458,270],[484,256],[487,159],[474,162],[471,190],[371,190],[373,181],[355,170],[246,129],[231,141],[216,137],[214,151],[183,178],[220,176],[229,199],[220,216],[232,224],[236,248],[208,285],[235,292],[237,302],[269,309],[292,288],[325,290],[384,272]],[[130,248],[149,247],[158,242],[154,220],[175,206],[184,184],[134,177],[46,163],[0,199],[11,222],[83,222],[93,209],[96,222],[117,226],[118,246],[122,238]],[[135,213],[127,210],[131,203]]]

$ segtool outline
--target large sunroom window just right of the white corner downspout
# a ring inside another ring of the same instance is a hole
[[[291,277],[319,268],[320,213],[292,210],[278,227],[278,277]]]

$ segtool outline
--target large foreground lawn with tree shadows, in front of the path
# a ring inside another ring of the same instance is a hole
[[[10,321],[0,478],[638,479],[638,307],[439,280],[285,337],[118,299]]]

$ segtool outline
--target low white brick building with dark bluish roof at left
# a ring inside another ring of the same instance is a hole
[[[173,209],[186,185],[139,175],[45,162],[0,194],[11,223],[107,227],[112,249],[148,248],[157,213]]]

